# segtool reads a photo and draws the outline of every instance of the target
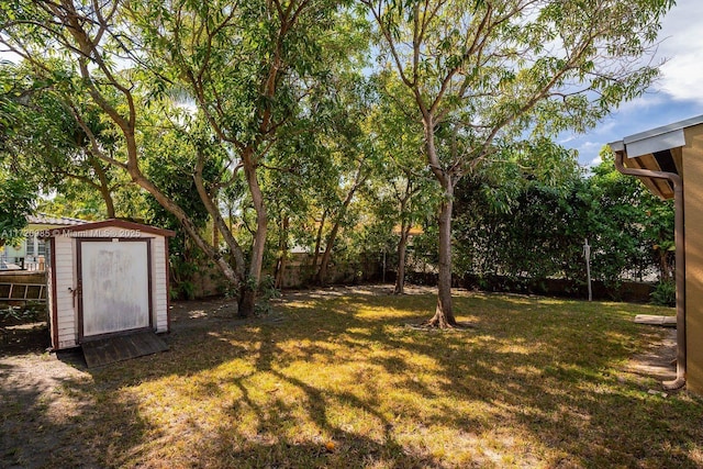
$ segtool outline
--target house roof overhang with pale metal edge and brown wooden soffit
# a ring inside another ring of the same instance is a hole
[[[672,172],[682,176],[682,148],[687,145],[685,130],[703,125],[703,115],[651,129],[613,142],[610,147],[623,153],[627,168]],[[673,199],[673,187],[666,179],[639,178],[644,185],[661,199]]]

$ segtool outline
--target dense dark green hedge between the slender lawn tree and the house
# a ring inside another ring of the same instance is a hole
[[[537,146],[531,152],[548,159],[543,149]],[[558,181],[529,172],[520,177],[493,167],[488,174],[467,178],[457,190],[456,271],[585,281],[583,244],[588,238],[595,280],[615,286],[624,277],[652,272],[662,280],[671,279],[672,205],[657,200],[636,178],[617,172],[607,152],[602,156],[592,175],[574,169]],[[563,168],[573,156],[558,158],[566,158],[561,159]],[[570,165],[576,168],[576,160]],[[512,181],[507,187],[500,185],[500,175],[505,172]]]

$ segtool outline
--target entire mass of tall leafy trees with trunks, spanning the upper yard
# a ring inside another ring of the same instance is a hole
[[[324,283],[333,253],[392,239],[402,259],[422,222],[438,236],[428,324],[451,326],[455,203],[492,191],[471,210],[498,216],[562,190],[565,220],[595,203],[549,136],[647,88],[671,5],[0,1],[0,43],[21,58],[0,65],[2,152],[55,206],[71,194],[180,226],[243,315],[292,245]],[[602,197],[622,196],[603,178]]]

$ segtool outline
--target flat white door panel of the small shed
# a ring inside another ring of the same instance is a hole
[[[148,327],[147,241],[79,244],[82,335]]]

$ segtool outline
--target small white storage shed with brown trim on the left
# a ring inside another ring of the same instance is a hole
[[[122,220],[44,233],[52,347],[130,332],[168,332],[167,238],[172,235]]]

